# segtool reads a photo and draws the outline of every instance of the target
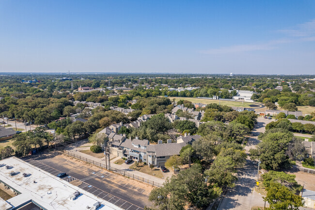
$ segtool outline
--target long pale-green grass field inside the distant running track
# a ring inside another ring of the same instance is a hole
[[[175,98],[175,101],[179,101],[179,97],[169,97],[171,100]],[[189,100],[192,103],[203,103],[203,104],[210,104],[210,103],[217,103],[219,104],[219,100],[213,100],[213,99],[204,99],[204,98],[195,98],[195,97],[181,97],[180,99],[183,100]],[[241,102],[241,101],[225,101],[220,100],[221,105],[226,106],[234,106],[234,107],[248,107],[250,108],[253,103],[251,102]],[[255,108],[255,107],[253,107]]]

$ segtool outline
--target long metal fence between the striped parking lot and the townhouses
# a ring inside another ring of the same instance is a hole
[[[85,161],[85,162],[89,162],[89,163],[92,163],[96,166],[99,166],[99,167],[102,167],[102,168],[105,168],[107,170],[110,170],[112,172],[115,172],[115,173],[118,173],[118,174],[121,174],[121,175],[124,175],[126,177],[129,177],[129,178],[133,178],[133,179],[136,179],[138,181],[142,181],[144,183],[148,183],[148,184],[151,184],[153,186],[156,186],[156,187],[161,187],[163,184],[161,183],[158,183],[156,181],[153,181],[153,180],[150,180],[150,179],[147,179],[147,178],[143,178],[143,177],[139,177],[137,175],[134,175],[134,174],[130,174],[127,170],[130,170],[131,169],[117,169],[117,168],[114,168],[114,167],[110,167],[109,165],[107,164],[104,164],[104,163],[100,163],[100,162],[96,162],[96,161],[93,161],[93,160],[90,160],[88,158],[85,158],[85,157],[82,157],[80,155],[77,155],[77,154],[74,154],[72,152],[69,152],[69,151],[62,151],[64,154],[66,155],[69,155],[69,156],[72,156],[74,158],[77,158],[81,161]]]

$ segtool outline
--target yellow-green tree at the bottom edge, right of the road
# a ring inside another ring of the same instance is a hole
[[[280,183],[271,183],[266,190],[264,200],[269,203],[270,210],[298,210],[303,206],[302,198]]]

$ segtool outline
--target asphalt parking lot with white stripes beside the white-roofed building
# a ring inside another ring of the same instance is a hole
[[[148,194],[153,187],[145,183],[58,153],[36,155],[23,160],[55,176],[65,172],[68,176],[64,180],[122,209],[142,210],[144,206],[151,206]]]

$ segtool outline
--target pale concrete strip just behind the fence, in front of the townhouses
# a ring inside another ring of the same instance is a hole
[[[78,147],[77,148],[73,148],[73,149],[68,149],[66,151],[74,153],[74,154],[76,154],[76,155],[78,155],[78,156],[80,156],[82,158],[90,159],[91,161],[102,163],[104,165],[106,164],[105,158],[100,159],[100,158],[96,158],[94,156],[82,153],[82,152],[79,151]],[[114,156],[111,156],[110,159],[112,157],[114,157]],[[117,158],[120,159],[119,157],[117,157]],[[110,161],[110,167],[111,168],[116,168],[117,170],[120,170],[120,171],[126,171],[129,174],[134,175],[135,177],[148,179],[148,180],[154,181],[155,183],[159,183],[160,185],[162,185],[164,183],[165,179],[157,178],[157,177],[154,177],[154,176],[151,176],[151,175],[148,175],[148,174],[141,173],[139,171],[132,170],[132,169],[129,168],[130,165],[126,165],[126,164],[124,165],[124,163],[122,165],[115,164],[114,161],[117,161],[118,160],[117,158],[115,158],[115,159]]]

